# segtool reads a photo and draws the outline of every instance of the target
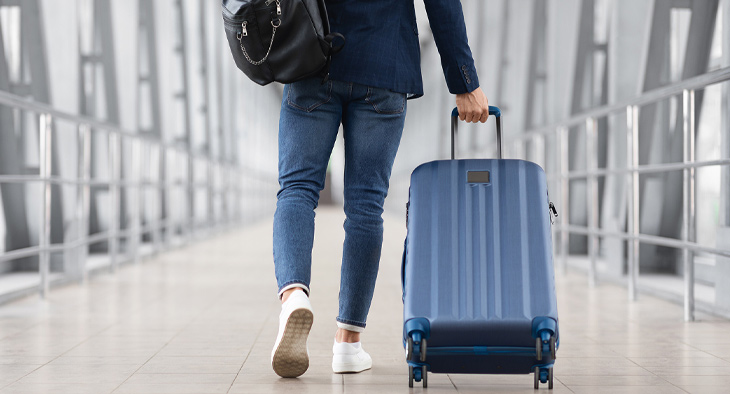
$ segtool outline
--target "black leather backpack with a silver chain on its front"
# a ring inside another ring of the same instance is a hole
[[[324,0],[223,0],[223,24],[236,65],[259,85],[326,80],[345,40],[330,33]]]

